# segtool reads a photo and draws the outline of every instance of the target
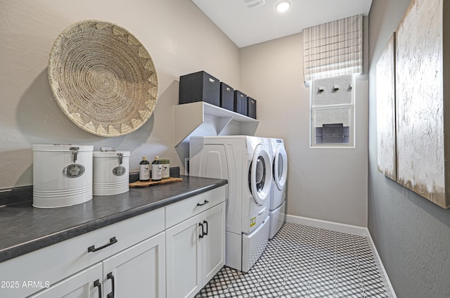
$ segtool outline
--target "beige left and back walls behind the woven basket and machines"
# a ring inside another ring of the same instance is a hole
[[[257,98],[257,134],[285,138],[289,214],[366,226],[366,98],[356,103],[356,148],[309,148],[301,33],[239,49],[189,0],[0,0],[0,8],[0,190],[32,184],[35,143],[129,150],[131,170],[142,155],[160,155],[184,172],[186,148],[174,148],[179,76],[205,70]],[[46,67],[53,41],[65,27],[86,19],[129,30],[146,46],[158,71],[155,111],[126,136],[103,138],[79,129],[51,93]]]

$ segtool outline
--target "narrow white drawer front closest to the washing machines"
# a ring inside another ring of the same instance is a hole
[[[200,195],[194,195],[186,200],[181,200],[166,208],[166,228],[170,228],[191,216],[197,215],[215,205],[224,202],[226,197],[226,186],[214,188]]]

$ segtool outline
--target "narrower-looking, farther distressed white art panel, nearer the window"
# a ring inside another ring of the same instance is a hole
[[[376,68],[378,171],[397,179],[395,139],[395,33]]]

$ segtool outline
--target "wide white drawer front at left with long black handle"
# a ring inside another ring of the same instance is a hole
[[[41,250],[0,263],[0,280],[16,280],[19,285],[33,281],[53,285],[59,280],[82,271],[131,245],[164,231],[164,208],[131,217],[75,238],[58,242]],[[101,250],[88,252],[88,247],[107,245],[111,238],[117,242]],[[42,290],[36,287],[0,289],[0,297],[25,297]]]

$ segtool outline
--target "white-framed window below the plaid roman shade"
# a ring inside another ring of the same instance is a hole
[[[353,76],[311,82],[311,147],[354,146]]]

